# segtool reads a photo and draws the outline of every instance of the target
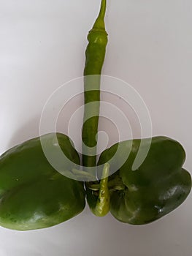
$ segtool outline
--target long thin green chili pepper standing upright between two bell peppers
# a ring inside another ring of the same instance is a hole
[[[88,34],[89,43],[85,51],[85,105],[82,127],[82,165],[88,167],[96,166],[96,135],[99,122],[100,75],[107,45],[107,32],[105,31],[104,26],[105,10],[106,0],[102,0],[99,16],[93,25],[93,29],[91,29]],[[92,104],[88,104],[91,102]],[[92,117],[89,118],[90,116]]]

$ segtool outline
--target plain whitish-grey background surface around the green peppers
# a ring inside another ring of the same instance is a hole
[[[0,1],[0,153],[39,135],[50,94],[82,75],[86,35],[99,0]],[[125,80],[145,100],[153,135],[185,148],[192,170],[190,0],[109,0],[103,73]],[[125,110],[126,111],[126,110]],[[77,124],[78,127],[78,124]],[[61,128],[60,128],[61,129]],[[135,134],[139,135],[138,127]],[[192,199],[150,225],[134,227],[88,208],[57,227],[17,232],[0,227],[1,256],[191,256]]]

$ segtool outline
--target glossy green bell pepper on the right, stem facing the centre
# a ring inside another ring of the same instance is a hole
[[[145,145],[150,143],[144,139]],[[163,217],[180,206],[191,191],[191,176],[183,169],[185,151],[175,140],[166,137],[152,138],[150,150],[138,170],[132,170],[140,140],[123,141],[120,154],[131,153],[122,167],[110,179],[120,179],[118,190],[112,189],[110,211],[120,222],[144,225]],[[101,154],[99,165],[109,161],[115,154],[118,143]],[[113,163],[113,168],[117,162]],[[114,169],[115,170],[115,169]],[[117,179],[117,180],[118,180]],[[110,184],[109,182],[109,184]]]

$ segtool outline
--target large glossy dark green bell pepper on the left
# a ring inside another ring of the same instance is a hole
[[[66,157],[79,164],[69,138],[60,133],[57,138]],[[43,135],[42,140],[47,147],[53,146],[53,134]],[[64,168],[69,170],[70,166]],[[83,183],[61,175],[47,162],[40,138],[1,155],[0,198],[0,225],[12,230],[57,225],[80,214],[85,207]]]

